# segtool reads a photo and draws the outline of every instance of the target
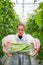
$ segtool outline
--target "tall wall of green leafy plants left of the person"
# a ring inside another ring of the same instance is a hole
[[[10,0],[0,0],[0,56],[3,55],[2,38],[8,34],[15,34],[19,22],[14,3]]]

